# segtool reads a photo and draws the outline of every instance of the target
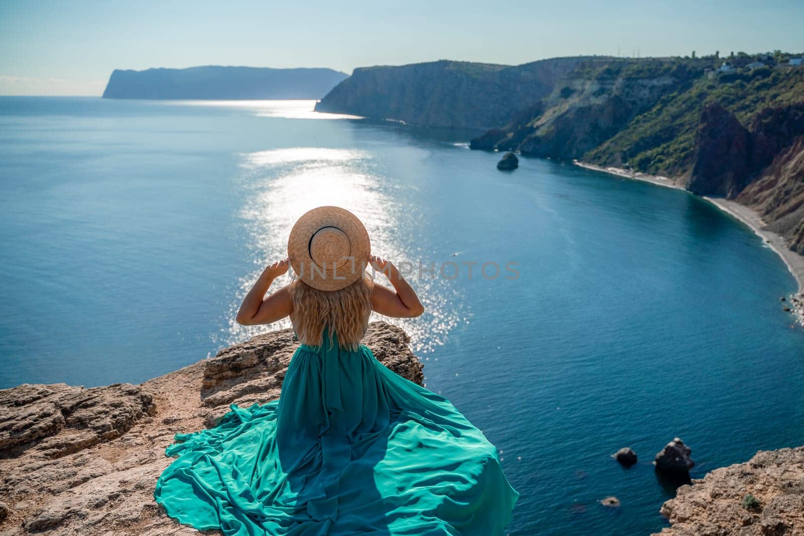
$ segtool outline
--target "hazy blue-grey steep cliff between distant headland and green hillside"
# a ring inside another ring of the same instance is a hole
[[[315,109],[428,127],[499,128],[548,95],[556,80],[584,59],[545,59],[515,67],[448,60],[361,67]]]

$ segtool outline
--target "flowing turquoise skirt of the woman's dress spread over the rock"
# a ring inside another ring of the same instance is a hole
[[[326,337],[325,337],[326,341]],[[198,530],[497,536],[519,493],[457,408],[365,346],[302,344],[281,396],[177,434],[156,501]]]

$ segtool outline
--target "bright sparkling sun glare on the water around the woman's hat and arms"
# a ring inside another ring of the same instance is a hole
[[[215,342],[233,344],[254,335],[290,327],[289,319],[270,326],[241,326],[235,315],[245,294],[269,262],[287,256],[290,229],[302,214],[322,205],[350,210],[366,225],[371,250],[399,263],[418,262],[420,250],[408,225],[411,215],[384,188],[388,182],[369,152],[353,149],[297,147],[242,155],[241,187],[246,203],[240,216],[250,236],[254,269],[240,279],[236,299],[228,311],[228,333]],[[370,270],[371,271],[371,270]],[[387,284],[383,276],[376,280]],[[272,290],[290,281],[285,275]],[[452,286],[438,279],[414,282],[427,312],[420,319],[385,319],[404,327],[414,351],[427,353],[444,343],[447,333],[461,322],[461,300]],[[217,339],[217,338],[215,338]]]

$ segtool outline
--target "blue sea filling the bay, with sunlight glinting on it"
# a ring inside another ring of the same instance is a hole
[[[233,322],[240,299],[334,204],[398,265],[444,266],[410,276],[428,311],[400,324],[427,387],[503,451],[510,534],[660,530],[674,489],[650,459],[674,436],[693,477],[804,444],[795,282],[744,225],[571,164],[498,172],[471,132],[311,109],[0,99],[0,388],[140,382],[266,329]]]

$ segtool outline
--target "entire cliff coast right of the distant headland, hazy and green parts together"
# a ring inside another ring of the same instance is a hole
[[[673,177],[664,184],[757,211],[760,229],[804,254],[804,67],[789,56],[740,53],[728,69],[715,55],[367,67],[316,110],[483,127],[470,148]]]

